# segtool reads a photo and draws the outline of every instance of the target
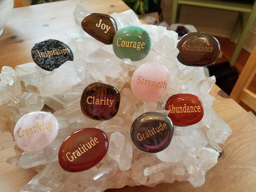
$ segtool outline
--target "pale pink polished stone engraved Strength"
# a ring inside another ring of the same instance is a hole
[[[131,90],[135,97],[146,102],[161,100],[170,83],[169,70],[160,63],[145,63],[134,71]]]

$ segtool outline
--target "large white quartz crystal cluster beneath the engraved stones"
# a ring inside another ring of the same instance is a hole
[[[82,10],[81,6],[78,8]],[[79,16],[79,13],[75,15]],[[231,130],[211,107],[214,97],[209,91],[215,77],[206,78],[203,67],[185,66],[177,60],[178,35],[174,31],[142,25],[131,10],[114,13],[111,17],[116,20],[118,29],[138,26],[148,31],[151,49],[146,58],[140,61],[119,59],[112,45],[92,38],[80,25],[66,33],[65,43],[73,51],[74,61],[66,61],[53,71],[41,69],[33,62],[14,69],[2,68],[0,114],[4,115],[0,118],[11,132],[18,119],[31,111],[50,111],[59,124],[57,137],[44,149],[28,152],[14,147],[17,156],[10,157],[7,162],[38,170],[21,191],[94,192],[124,186],[155,186],[175,180],[189,181],[198,187],[204,184],[205,173],[217,163],[221,152],[219,144],[226,141]],[[170,71],[171,78],[165,97],[150,103],[137,99],[130,86],[135,69],[148,62],[162,63]],[[82,92],[94,82],[112,85],[121,94],[118,113],[106,121],[90,119],[81,111]],[[139,150],[130,137],[134,119],[148,111],[167,115],[165,102],[177,93],[194,94],[202,100],[202,120],[194,125],[174,126],[170,145],[159,153]],[[106,133],[109,140],[107,154],[89,170],[67,172],[58,162],[59,148],[69,134],[86,127]]]

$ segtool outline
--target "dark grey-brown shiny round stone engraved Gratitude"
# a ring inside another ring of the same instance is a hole
[[[147,112],[132,123],[131,139],[136,147],[157,153],[169,146],[173,135],[171,119],[158,112]]]

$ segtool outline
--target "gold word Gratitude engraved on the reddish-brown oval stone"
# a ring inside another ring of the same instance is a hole
[[[66,157],[68,161],[73,162],[76,158],[79,158],[80,156],[82,156],[84,153],[92,149],[98,143],[99,143],[99,140],[97,137],[94,137],[94,138],[90,137],[90,141],[88,141],[85,144],[79,144],[79,147],[75,149],[72,153],[69,151],[66,153]]]

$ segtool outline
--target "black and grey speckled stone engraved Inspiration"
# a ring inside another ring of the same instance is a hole
[[[60,67],[66,61],[74,60],[68,45],[55,39],[36,43],[31,49],[31,55],[36,65],[47,71]]]

